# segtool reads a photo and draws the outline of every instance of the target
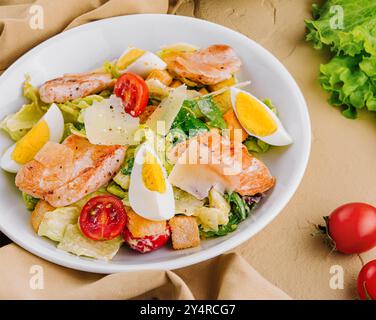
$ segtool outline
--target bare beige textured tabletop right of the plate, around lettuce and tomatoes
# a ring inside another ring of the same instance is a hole
[[[331,253],[313,223],[349,201],[376,203],[375,115],[347,120],[326,102],[317,82],[322,52],[304,41],[311,0],[184,1],[180,15],[196,16],[237,30],[270,50],[303,91],[312,122],[312,150],[305,177],[285,210],[236,251],[256,270],[297,299],[356,298],[358,256]],[[317,2],[317,1],[316,1]],[[362,255],[376,258],[376,250]],[[330,267],[345,272],[343,290],[329,287]]]

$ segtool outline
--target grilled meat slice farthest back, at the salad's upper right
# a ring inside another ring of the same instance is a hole
[[[193,53],[173,53],[164,60],[173,75],[205,85],[231,78],[241,66],[235,51],[223,44],[212,45]]]

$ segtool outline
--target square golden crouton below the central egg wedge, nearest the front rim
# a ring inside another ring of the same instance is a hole
[[[200,233],[196,218],[175,216],[169,221],[172,247],[175,250],[197,247],[200,245]]]

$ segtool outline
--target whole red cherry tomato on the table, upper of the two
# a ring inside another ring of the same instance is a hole
[[[376,246],[376,208],[366,203],[348,203],[334,210],[327,221],[335,249],[362,253]]]

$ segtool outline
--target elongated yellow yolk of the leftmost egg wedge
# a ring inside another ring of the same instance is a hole
[[[19,164],[28,163],[49,140],[48,124],[45,120],[41,120],[16,143],[12,159]]]

